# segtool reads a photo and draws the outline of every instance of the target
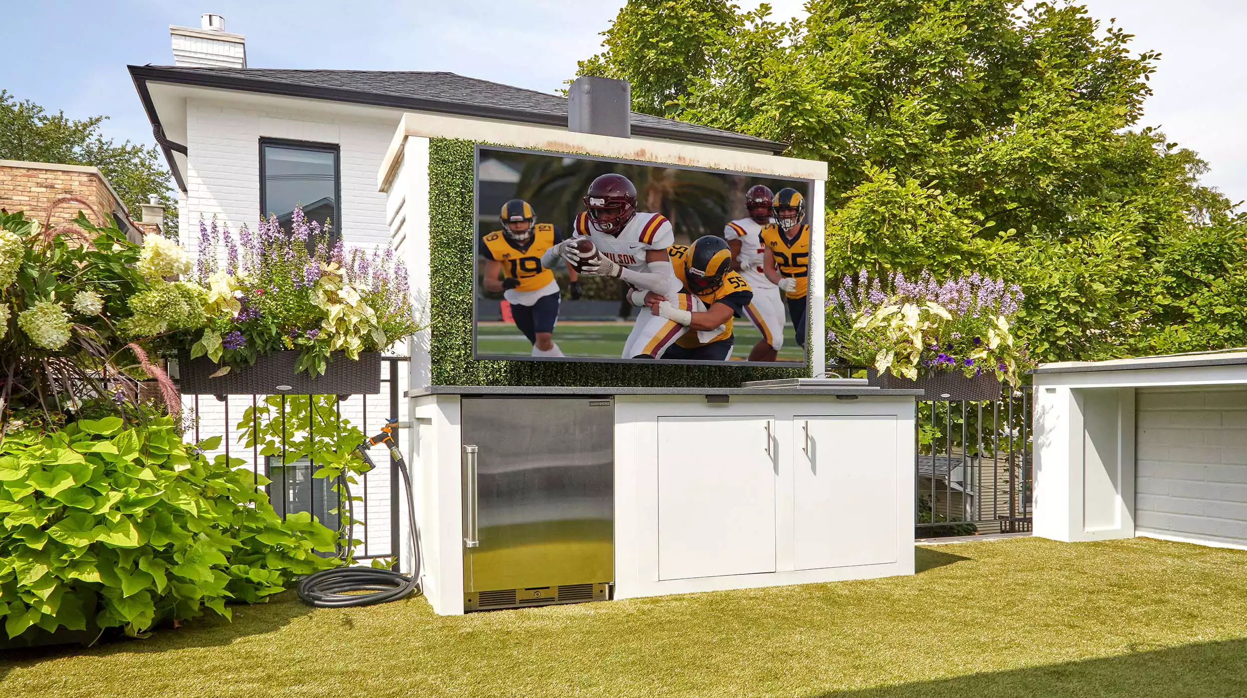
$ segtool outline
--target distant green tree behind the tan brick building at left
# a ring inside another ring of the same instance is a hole
[[[60,111],[50,113],[30,100],[17,101],[0,90],[0,158],[99,167],[135,218],[148,194],[156,194],[165,206],[165,231],[176,233],[177,198],[156,147],[130,141],[118,145],[105,138],[100,125],[106,118],[76,120]]]

